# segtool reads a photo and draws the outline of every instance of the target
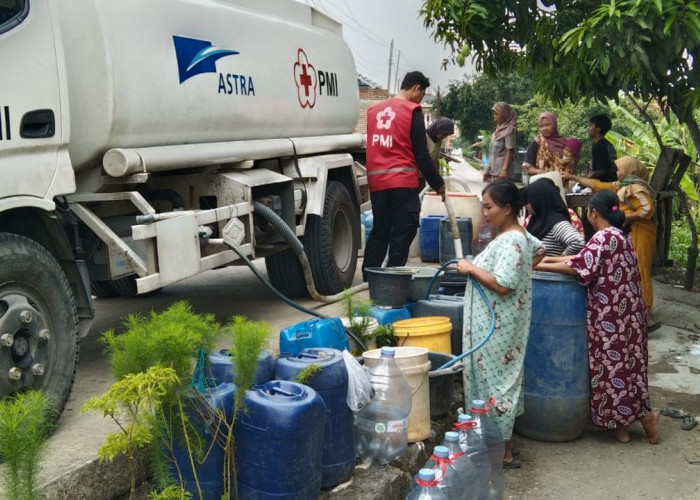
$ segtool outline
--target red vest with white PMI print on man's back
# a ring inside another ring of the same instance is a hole
[[[394,97],[367,109],[370,191],[418,188],[418,166],[411,143],[411,120],[416,108],[420,104]]]

